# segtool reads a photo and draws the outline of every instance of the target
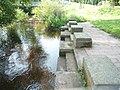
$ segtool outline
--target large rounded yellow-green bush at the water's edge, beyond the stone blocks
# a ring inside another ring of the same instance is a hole
[[[48,27],[58,28],[67,21],[62,6],[51,0],[42,1],[42,5],[34,8],[33,13]]]

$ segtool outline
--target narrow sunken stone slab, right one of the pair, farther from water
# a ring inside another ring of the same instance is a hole
[[[66,66],[67,71],[77,72],[77,65],[73,53],[66,53]]]

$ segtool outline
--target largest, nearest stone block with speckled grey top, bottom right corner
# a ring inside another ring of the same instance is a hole
[[[108,57],[84,57],[83,67],[88,86],[94,87],[95,90],[119,90],[120,72]]]

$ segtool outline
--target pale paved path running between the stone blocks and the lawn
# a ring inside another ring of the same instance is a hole
[[[92,37],[92,48],[75,49],[78,64],[82,64],[84,56],[106,55],[114,65],[120,70],[120,40],[112,37],[110,34],[94,28],[89,22],[80,23],[83,26],[83,32]]]

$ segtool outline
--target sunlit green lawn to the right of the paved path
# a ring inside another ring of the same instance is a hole
[[[74,3],[73,7],[76,15],[84,17],[95,27],[120,38],[120,6],[109,8],[108,5],[104,7],[83,5],[83,8],[79,8],[79,4]]]

